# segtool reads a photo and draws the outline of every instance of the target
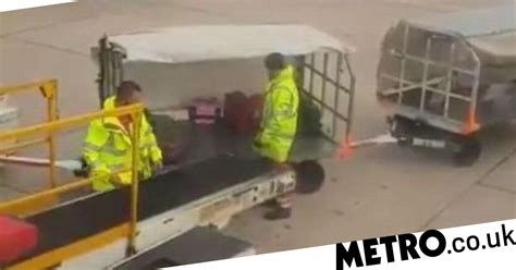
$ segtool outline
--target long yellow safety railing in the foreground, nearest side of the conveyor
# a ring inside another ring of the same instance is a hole
[[[144,106],[140,103],[126,106],[116,108],[113,110],[102,110],[98,112],[93,112],[88,114],[72,116],[62,120],[56,120],[44,124],[38,124],[28,127],[16,128],[8,132],[3,132],[0,134],[0,142],[11,140],[11,139],[20,139],[25,137],[33,137],[33,136],[46,136],[50,133],[56,134],[62,130],[70,130],[73,127],[77,127],[82,124],[89,123],[96,119],[107,118],[107,116],[121,116],[121,115],[131,115],[133,118],[133,132],[131,133],[131,140],[132,145],[138,145],[139,130],[140,130],[140,120],[144,113]],[[20,145],[20,146],[23,146]],[[10,147],[15,149],[16,146]],[[0,155],[2,151],[7,151],[8,149],[1,149]],[[30,258],[27,261],[21,262],[20,265],[15,266],[21,267],[21,269],[27,269],[26,267],[32,266],[51,266],[51,263],[59,263],[62,260],[69,259],[71,257],[87,253],[93,250],[94,248],[98,248],[101,245],[106,245],[109,241],[115,241],[116,237],[126,236],[127,237],[127,254],[133,254],[135,248],[135,237],[136,237],[136,225],[137,225],[137,217],[138,217],[138,162],[139,162],[139,147],[132,148],[132,156],[133,156],[133,167],[132,170],[132,182],[131,182],[131,219],[124,223],[122,226],[118,228],[115,232],[108,233],[109,237],[105,237],[102,240],[102,235],[93,236],[85,241],[79,241],[77,243],[71,243],[70,248],[66,249],[65,247],[51,251],[49,254],[39,256],[38,258]],[[52,161],[54,162],[54,161]],[[52,164],[54,165],[54,164]],[[58,196],[65,192],[70,192],[73,189],[77,189],[87,185],[90,185],[94,179],[86,179],[81,180],[78,182],[74,182],[71,184],[64,184],[58,187],[53,187],[44,192],[39,192],[26,197],[22,197],[19,199],[14,199],[8,202],[0,204],[0,214],[22,214],[27,213],[30,209],[38,208],[40,201],[46,201],[48,198],[52,196]],[[114,230],[114,229],[113,229]],[[105,235],[106,236],[106,235]],[[109,241],[107,241],[109,240]],[[84,242],[84,243],[83,243]],[[30,269],[30,267],[28,269]],[[38,268],[39,268],[38,267]]]

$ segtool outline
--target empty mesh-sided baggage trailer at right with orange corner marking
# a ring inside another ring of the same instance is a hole
[[[401,145],[479,158],[482,128],[516,118],[515,5],[404,20],[385,35],[377,97]]]

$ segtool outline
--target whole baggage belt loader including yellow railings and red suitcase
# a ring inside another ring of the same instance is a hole
[[[0,140],[16,138],[17,144],[1,151],[23,148],[27,138],[46,137],[49,133],[57,135],[61,130],[98,118],[131,114],[137,119],[143,115],[143,109],[142,105],[133,105],[8,131],[0,134]],[[137,131],[139,125],[134,128]],[[133,151],[133,155],[139,155],[138,148]],[[177,243],[180,246],[181,243],[195,246],[196,242],[189,240],[197,241],[199,234],[205,242],[228,244],[228,249],[211,257],[205,254],[199,258],[177,255],[156,259],[192,263],[253,254],[249,244],[198,226],[223,226],[235,213],[292,191],[295,188],[295,174],[293,169],[279,169],[261,159],[218,156],[163,170],[147,181],[134,179],[131,186],[61,204],[49,205],[48,201],[49,198],[56,201],[53,198],[66,192],[89,186],[93,180],[60,184],[2,202],[0,216],[8,217],[0,219],[0,269],[60,266],[76,269],[76,266],[84,266],[84,261],[88,261],[88,268],[103,269],[127,256],[134,257],[126,259],[125,263],[138,262],[138,251],[146,255],[152,250],[162,253],[167,244],[174,248],[177,248]],[[133,175],[137,173],[133,172]],[[180,235],[182,237],[175,240]],[[148,256],[144,258],[148,259]]]

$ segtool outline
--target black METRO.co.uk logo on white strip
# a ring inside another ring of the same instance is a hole
[[[438,257],[446,254],[459,254],[465,250],[481,250],[503,246],[516,246],[514,230],[505,224],[496,232],[487,233],[482,237],[453,237],[447,242],[438,230],[429,230],[416,236],[407,233],[383,236],[359,242],[336,244],[336,269],[361,268],[396,261],[420,259],[421,256]],[[451,244],[449,246],[449,244]],[[361,247],[361,248],[360,248]],[[397,255],[397,256],[395,256]]]

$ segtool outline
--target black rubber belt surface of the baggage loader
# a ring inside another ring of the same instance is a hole
[[[187,205],[216,192],[244,183],[271,169],[263,160],[217,157],[144,181],[139,194],[139,220]],[[103,232],[128,220],[128,187],[95,194],[26,220],[39,229],[35,257]],[[10,265],[14,265],[12,262]],[[2,266],[0,266],[2,267]]]

